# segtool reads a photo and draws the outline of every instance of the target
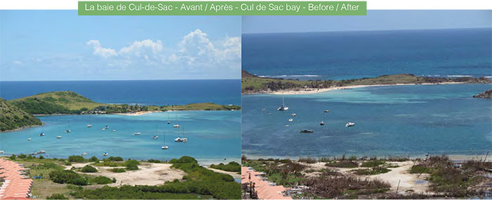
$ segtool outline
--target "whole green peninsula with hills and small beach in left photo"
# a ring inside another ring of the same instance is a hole
[[[139,115],[149,112],[182,110],[240,110],[237,105],[217,105],[212,102],[188,105],[127,105],[94,102],[72,91],[39,93],[14,100],[0,98],[0,131],[13,131],[19,128],[41,125],[34,115],[56,114],[127,114]]]

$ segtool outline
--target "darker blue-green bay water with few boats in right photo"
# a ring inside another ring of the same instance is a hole
[[[276,110],[282,95],[243,95],[242,153],[271,157],[483,155],[492,149],[492,101],[472,95],[491,87],[374,86],[285,95],[288,112]],[[325,109],[330,112],[323,114]],[[294,121],[288,122],[290,118]],[[325,126],[320,126],[321,120]],[[349,121],[355,126],[346,128]],[[314,133],[299,133],[302,129]]]

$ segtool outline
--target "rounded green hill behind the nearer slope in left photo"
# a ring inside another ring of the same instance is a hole
[[[72,91],[40,93],[9,102],[30,114],[79,114],[105,105]]]

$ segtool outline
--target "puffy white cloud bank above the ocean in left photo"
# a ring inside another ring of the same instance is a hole
[[[157,70],[166,74],[204,74],[204,77],[205,74],[220,76],[232,72],[235,76],[240,75],[240,37],[225,37],[212,41],[201,29],[184,35],[175,48],[164,49],[162,41],[152,39],[134,41],[118,51],[114,48],[104,48],[97,40],[88,41],[87,44],[93,47],[94,55],[111,57],[106,60],[109,67],[131,67],[133,70],[148,72]]]

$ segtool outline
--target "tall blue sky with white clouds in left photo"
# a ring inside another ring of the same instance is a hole
[[[0,11],[0,80],[240,79],[240,16]]]

